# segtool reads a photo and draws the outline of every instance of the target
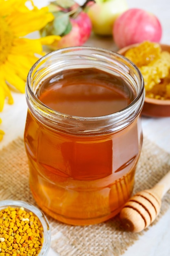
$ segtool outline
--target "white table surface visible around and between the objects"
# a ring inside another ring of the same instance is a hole
[[[38,7],[45,6],[47,0],[34,0]],[[77,0],[82,3],[83,0]],[[137,7],[154,13],[163,27],[161,43],[170,44],[170,0],[127,0],[129,8]],[[86,45],[95,45],[116,50],[110,38],[96,38],[92,36]],[[0,128],[5,131],[4,139],[0,142],[0,149],[16,139],[23,137],[26,119],[26,101],[24,94],[13,93],[14,105],[5,104],[0,113],[3,123]],[[146,118],[142,117],[144,136],[170,153],[170,117]],[[134,245],[128,248],[124,256],[170,256],[170,209],[153,225]],[[48,256],[59,256],[50,249]],[[110,255],[111,256],[111,255]]]

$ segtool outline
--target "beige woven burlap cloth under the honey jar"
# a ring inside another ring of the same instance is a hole
[[[133,193],[155,185],[170,169],[170,154],[144,138]],[[0,200],[24,200],[36,205],[29,190],[29,168],[23,139],[0,151]],[[159,217],[170,207],[170,192],[162,201]],[[61,256],[118,256],[135,243],[139,234],[123,231],[119,216],[98,225],[71,226],[47,216],[51,225],[51,247]],[[149,228],[152,228],[152,225]]]

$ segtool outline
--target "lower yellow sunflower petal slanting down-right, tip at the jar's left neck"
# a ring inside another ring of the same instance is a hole
[[[5,65],[2,66],[2,69],[4,70],[4,77],[7,83],[12,85],[14,88],[16,88],[18,91],[24,93],[25,92],[25,81],[20,78],[13,70],[11,70],[11,66],[9,63],[5,63]]]

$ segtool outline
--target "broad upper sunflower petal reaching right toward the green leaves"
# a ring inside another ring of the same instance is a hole
[[[54,16],[48,11],[48,7],[43,7],[41,9],[34,8],[26,13],[15,11],[15,13],[11,13],[10,16],[6,17],[6,22],[13,34],[19,37],[40,30],[53,19]]]

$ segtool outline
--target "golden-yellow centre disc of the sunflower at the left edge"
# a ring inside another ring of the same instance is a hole
[[[0,17],[0,64],[9,54],[13,42],[13,34],[4,18]]]

